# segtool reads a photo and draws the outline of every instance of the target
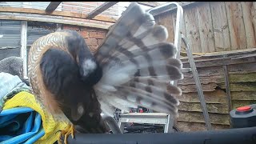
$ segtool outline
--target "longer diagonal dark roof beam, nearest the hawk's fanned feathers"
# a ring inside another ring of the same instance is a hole
[[[118,2],[105,2],[102,4],[102,6],[98,6],[95,10],[90,12],[90,14],[88,14],[88,16],[86,18],[89,18],[89,19],[94,18],[98,14],[101,14],[103,11],[110,8],[111,6],[114,6],[116,3],[118,3]]]

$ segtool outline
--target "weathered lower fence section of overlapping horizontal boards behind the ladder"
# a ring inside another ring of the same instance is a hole
[[[190,68],[188,58],[181,59],[183,67]],[[194,55],[194,60],[214,130],[230,128],[229,104],[235,109],[256,103],[256,49],[198,54]],[[228,71],[230,94],[226,89],[224,66]],[[178,81],[182,89],[182,96],[178,97],[181,102],[178,128],[206,130],[193,74],[183,74],[184,79]]]

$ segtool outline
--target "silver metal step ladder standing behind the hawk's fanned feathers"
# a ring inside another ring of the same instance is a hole
[[[177,18],[176,18],[176,28],[175,28],[175,37],[174,37],[174,46],[178,48],[178,53],[175,55],[175,58],[180,59],[180,50],[182,46],[182,42],[186,45],[186,53],[190,62],[190,68],[183,68],[182,72],[192,71],[194,81],[198,90],[198,97],[202,106],[202,112],[206,122],[206,129],[212,130],[212,126],[210,124],[210,117],[208,114],[208,110],[206,108],[206,101],[202,92],[201,82],[198,76],[198,71],[196,69],[196,65],[194,62],[192,51],[190,50],[190,44],[187,38],[182,34],[182,22],[183,22],[183,9],[177,2],[168,2],[165,5],[154,7],[153,9],[148,10],[150,14],[156,15],[168,10],[174,10],[177,8]],[[170,82],[170,84],[177,86],[178,81]],[[134,122],[134,123],[150,123],[150,124],[161,124],[164,125],[164,133],[173,132],[174,126],[174,116],[165,113],[128,113],[128,114],[120,114],[120,118],[118,121],[118,126],[120,130],[124,131],[124,126],[126,122]]]

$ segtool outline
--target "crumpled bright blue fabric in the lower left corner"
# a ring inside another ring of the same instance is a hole
[[[44,134],[41,115],[29,107],[16,107],[0,113],[0,143],[32,144]]]

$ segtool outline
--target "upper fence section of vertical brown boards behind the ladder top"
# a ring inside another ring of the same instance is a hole
[[[194,53],[256,47],[256,2],[195,2],[183,10],[182,34]],[[173,24],[164,26],[175,32],[175,10],[155,17],[159,23],[172,17]],[[183,43],[182,51],[186,51]]]

